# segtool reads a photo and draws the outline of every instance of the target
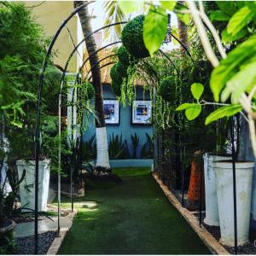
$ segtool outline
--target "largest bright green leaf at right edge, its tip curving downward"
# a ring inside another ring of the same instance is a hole
[[[219,94],[224,89],[226,82],[239,72],[241,65],[246,61],[250,61],[255,54],[256,35],[253,35],[247,41],[239,44],[235,49],[230,51],[227,58],[220,61],[219,66],[213,69],[210,87],[216,102],[218,102]]]

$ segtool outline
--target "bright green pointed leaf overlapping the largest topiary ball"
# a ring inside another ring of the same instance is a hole
[[[151,56],[160,49],[166,38],[167,23],[168,17],[164,9],[154,7],[149,9],[143,25],[143,40]]]

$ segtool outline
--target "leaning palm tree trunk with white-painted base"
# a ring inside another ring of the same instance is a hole
[[[83,4],[83,1],[75,1],[74,6],[78,7]],[[79,11],[79,20],[81,22],[84,38],[92,32],[90,26],[90,15],[88,7],[85,6]],[[97,157],[96,157],[96,170],[99,172],[109,172],[109,158],[108,158],[108,138],[107,130],[104,118],[103,110],[103,93],[102,93],[102,77],[101,77],[101,67],[96,63],[99,61],[97,54],[92,55],[96,51],[96,41],[93,36],[85,39],[86,49],[88,55],[90,56],[90,67],[94,67],[92,70],[92,84],[95,87],[95,108],[98,120],[96,120],[96,147],[97,147]]]

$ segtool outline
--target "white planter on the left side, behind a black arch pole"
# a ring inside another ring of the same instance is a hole
[[[49,192],[49,160],[39,160],[38,169],[38,212],[47,211],[47,199]],[[26,170],[26,177],[20,183],[21,207],[35,209],[35,161],[18,160],[16,162],[19,179],[23,170]],[[24,210],[25,211],[25,210]]]

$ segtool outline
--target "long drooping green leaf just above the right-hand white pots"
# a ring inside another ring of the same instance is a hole
[[[223,119],[224,117],[230,117],[242,110],[241,105],[229,105],[216,109],[207,116],[206,125],[209,125],[213,121]]]

